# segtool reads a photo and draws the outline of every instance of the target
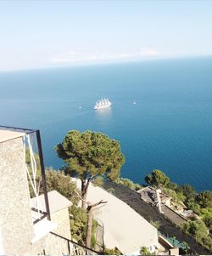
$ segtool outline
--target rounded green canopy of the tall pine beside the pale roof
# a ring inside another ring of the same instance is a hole
[[[108,174],[110,179],[117,179],[125,162],[117,140],[91,131],[70,131],[55,150],[68,164],[70,172],[81,179],[97,174]]]

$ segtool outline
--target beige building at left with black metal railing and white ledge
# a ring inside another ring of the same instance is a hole
[[[47,193],[39,130],[0,127],[0,174],[0,255],[85,254],[70,240],[71,202],[57,191]]]

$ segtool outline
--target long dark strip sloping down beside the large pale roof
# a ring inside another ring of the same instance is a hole
[[[212,252],[204,249],[198,242],[196,242],[191,236],[185,235],[179,230],[176,225],[171,224],[170,220],[165,219],[165,216],[151,207],[147,202],[141,200],[140,195],[136,191],[131,191],[124,185],[112,183],[106,181],[104,188],[107,190],[111,187],[114,188],[114,196],[120,198],[120,200],[126,202],[131,208],[139,213],[144,219],[148,221],[159,220],[159,231],[165,236],[176,236],[176,239],[180,242],[187,242],[188,246],[192,249],[192,253],[209,255]]]

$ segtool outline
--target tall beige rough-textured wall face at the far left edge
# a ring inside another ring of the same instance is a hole
[[[0,143],[0,175],[0,230],[4,254],[21,254],[33,237],[22,138]]]

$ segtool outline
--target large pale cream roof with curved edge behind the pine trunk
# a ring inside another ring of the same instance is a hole
[[[75,180],[75,179],[74,179]],[[80,185],[77,180],[77,185]],[[157,230],[125,202],[98,186],[89,185],[87,201],[107,203],[94,208],[94,218],[104,227],[106,247],[118,247],[123,254],[139,254],[142,246],[158,244]]]

